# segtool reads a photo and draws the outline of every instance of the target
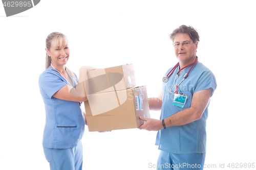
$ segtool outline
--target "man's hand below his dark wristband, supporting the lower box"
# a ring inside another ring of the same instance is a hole
[[[162,121],[154,118],[145,118],[141,117],[141,120],[146,121],[143,125],[139,127],[139,129],[144,129],[148,131],[159,131],[163,128]]]

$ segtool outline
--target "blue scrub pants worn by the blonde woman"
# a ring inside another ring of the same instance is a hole
[[[82,170],[82,142],[68,149],[43,148],[51,170]]]

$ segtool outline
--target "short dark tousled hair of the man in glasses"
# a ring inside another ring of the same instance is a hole
[[[169,38],[174,42],[174,38],[178,34],[187,34],[194,43],[199,42],[199,35],[196,29],[191,26],[182,25],[179,28],[175,29],[172,34],[169,35]]]

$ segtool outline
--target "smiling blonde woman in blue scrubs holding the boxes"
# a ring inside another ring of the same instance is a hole
[[[81,139],[86,115],[80,108],[87,100],[81,82],[87,67],[80,68],[79,79],[65,65],[70,58],[68,39],[53,32],[46,39],[46,70],[39,76],[39,89],[45,103],[46,125],[42,145],[51,170],[82,169]]]

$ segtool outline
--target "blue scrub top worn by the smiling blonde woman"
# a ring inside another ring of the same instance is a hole
[[[85,119],[79,102],[54,98],[52,95],[65,85],[71,85],[55,68],[49,66],[39,76],[39,89],[45,103],[46,125],[42,145],[47,148],[76,147],[83,136]]]

